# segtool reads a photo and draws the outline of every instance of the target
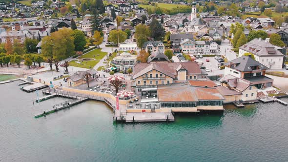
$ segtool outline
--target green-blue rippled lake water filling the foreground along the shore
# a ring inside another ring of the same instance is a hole
[[[288,106],[227,105],[222,115],[176,115],[170,123],[115,124],[103,102],[85,101],[34,119],[69,100],[33,106],[35,93],[0,85],[0,161],[288,161]],[[288,101],[287,99],[284,99]]]

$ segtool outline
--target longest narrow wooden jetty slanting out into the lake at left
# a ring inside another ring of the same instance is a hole
[[[85,101],[85,100],[88,100],[88,98],[78,98],[78,99],[73,99],[73,100],[69,100],[69,101],[65,101],[65,102],[61,102],[61,103],[58,103],[58,104],[55,104],[52,106],[52,109],[50,110],[47,110],[47,111],[43,111],[42,113],[39,113],[39,114],[36,114],[35,115],[35,118],[39,118],[39,117],[42,117],[42,116],[46,116],[48,114],[52,114],[58,110],[62,110],[64,108],[67,108],[67,107],[70,107],[72,105],[75,105],[75,104],[78,104],[82,101]]]

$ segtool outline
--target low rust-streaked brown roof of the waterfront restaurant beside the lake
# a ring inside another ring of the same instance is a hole
[[[216,88],[195,87],[188,83],[158,85],[157,93],[160,102],[225,100]]]

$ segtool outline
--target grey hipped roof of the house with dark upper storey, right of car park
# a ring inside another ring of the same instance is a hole
[[[242,56],[240,58],[225,63],[225,65],[228,66],[230,63],[236,64],[236,66],[234,66],[232,69],[236,69],[242,72],[252,71],[251,66],[258,66],[260,70],[269,69],[260,62],[253,60],[249,56]]]

